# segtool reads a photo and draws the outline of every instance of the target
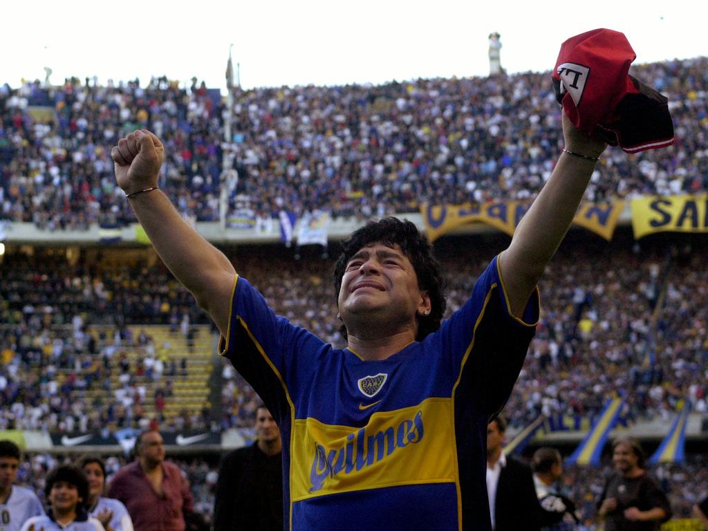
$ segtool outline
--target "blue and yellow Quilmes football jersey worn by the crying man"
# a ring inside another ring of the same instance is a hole
[[[440,330],[365,361],[275,316],[234,280],[226,355],[282,435],[291,530],[488,530],[489,418],[506,403],[539,315],[512,316],[498,259]]]

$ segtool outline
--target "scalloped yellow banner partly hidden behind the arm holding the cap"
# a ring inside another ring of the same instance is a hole
[[[469,223],[485,223],[509,236],[530,207],[528,201],[493,202],[486,205],[439,205],[421,207],[423,223],[429,241]],[[573,223],[584,227],[606,240],[615,234],[617,220],[624,210],[624,201],[595,204],[586,202],[578,208]]]

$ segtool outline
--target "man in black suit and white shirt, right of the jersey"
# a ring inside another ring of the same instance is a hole
[[[494,531],[539,531],[540,506],[530,467],[504,455],[506,421],[487,426],[487,496]]]

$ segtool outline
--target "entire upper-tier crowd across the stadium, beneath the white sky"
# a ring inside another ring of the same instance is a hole
[[[706,58],[633,67],[668,96],[676,144],[639,154],[638,164],[611,149],[589,200],[708,188],[706,72]],[[38,112],[42,105],[48,114]],[[0,87],[0,219],[50,229],[132,221],[112,176],[110,147],[142,127],[165,142],[161,186],[198,221],[218,219],[220,183],[228,215],[245,209],[260,219],[281,210],[366,218],[413,212],[424,202],[528,198],[561,147],[548,72],[235,88],[230,111],[233,138],[224,142],[229,108],[196,81],[189,89],[164,78],[144,87],[89,79]]]

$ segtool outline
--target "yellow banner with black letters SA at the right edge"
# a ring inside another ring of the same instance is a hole
[[[634,238],[655,232],[708,232],[708,195],[666,195],[630,202]]]

